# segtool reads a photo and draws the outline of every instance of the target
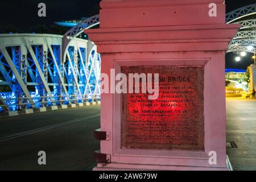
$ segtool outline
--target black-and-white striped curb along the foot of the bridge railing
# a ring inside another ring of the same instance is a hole
[[[84,102],[84,103],[77,103],[77,104],[59,105],[59,106],[47,106],[47,107],[40,107],[40,108],[33,108],[33,109],[23,109],[18,111],[2,111],[0,112],[0,118],[15,117],[18,115],[25,115],[25,114],[44,113],[52,110],[71,109],[76,107],[86,107],[86,106],[100,105],[100,104],[101,104],[101,101],[96,101],[96,102]]]

